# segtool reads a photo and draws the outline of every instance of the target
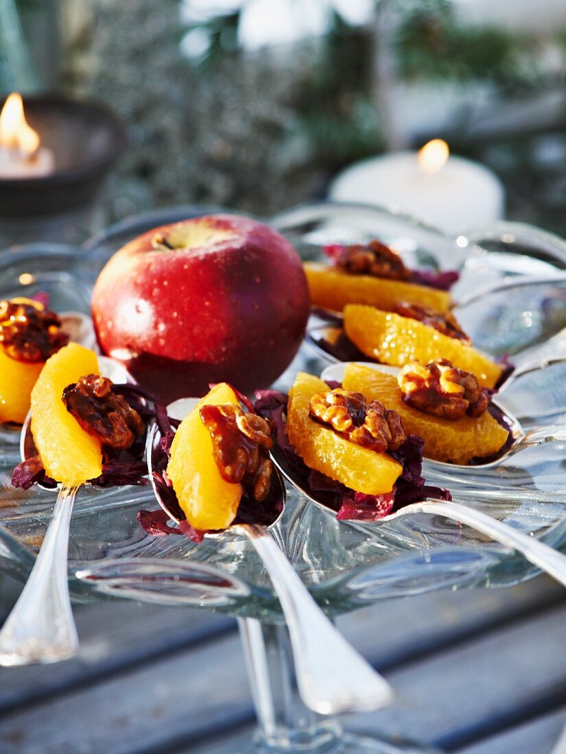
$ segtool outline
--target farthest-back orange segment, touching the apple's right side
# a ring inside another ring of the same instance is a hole
[[[403,280],[349,274],[321,262],[305,262],[303,267],[312,303],[334,311],[342,311],[346,304],[370,304],[394,311],[395,304],[401,301],[436,311],[450,311],[452,305],[452,297],[445,290]]]

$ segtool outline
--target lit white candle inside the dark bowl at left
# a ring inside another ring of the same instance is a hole
[[[54,154],[40,146],[26,121],[22,98],[11,93],[0,113],[0,179],[38,178],[55,170]]]

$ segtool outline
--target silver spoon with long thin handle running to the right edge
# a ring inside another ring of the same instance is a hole
[[[281,471],[281,474],[284,475],[295,489],[322,510],[326,510],[328,513],[332,513],[333,516],[336,516],[336,510],[325,504],[321,499],[316,498],[314,496],[316,493],[313,493],[312,490],[306,489],[297,472],[289,466],[287,461],[285,461],[285,456],[277,447],[274,447],[272,451],[272,459]],[[380,526],[382,523],[389,523],[401,518],[401,516],[411,516],[414,513],[429,513],[434,516],[444,516],[444,518],[456,521],[457,523],[466,524],[466,526],[489,537],[493,541],[517,550],[534,566],[537,566],[541,571],[548,573],[560,584],[566,586],[566,556],[553,550],[552,547],[538,541],[536,538],[524,535],[512,526],[508,526],[506,523],[502,523],[491,516],[487,516],[485,513],[481,513],[480,510],[475,510],[475,508],[468,507],[456,501],[427,499],[405,505],[405,507],[396,510],[394,513],[389,513],[388,516],[383,516],[383,518],[376,521],[358,521],[352,523],[359,523],[364,526]]]

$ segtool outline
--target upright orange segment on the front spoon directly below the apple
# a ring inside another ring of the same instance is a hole
[[[201,406],[226,403],[238,403],[238,398],[226,382],[220,382],[181,421],[171,443],[167,475],[180,507],[195,529],[226,529],[240,503],[241,484],[226,482],[220,476],[211,435],[199,413]]]

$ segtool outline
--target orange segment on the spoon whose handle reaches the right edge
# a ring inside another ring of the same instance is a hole
[[[387,453],[376,453],[326,428],[309,416],[310,399],[328,391],[318,377],[299,372],[289,391],[287,434],[306,465],[357,492],[391,492],[403,470]]]

